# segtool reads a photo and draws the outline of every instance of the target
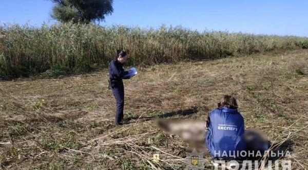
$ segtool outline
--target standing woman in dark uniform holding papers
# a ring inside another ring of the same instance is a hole
[[[127,122],[123,119],[124,109],[124,85],[122,79],[129,79],[125,77],[131,73],[132,70],[124,71],[123,63],[127,60],[127,53],[124,51],[117,51],[115,58],[109,64],[109,88],[117,101],[117,111],[115,112],[115,125],[121,125],[122,122]]]

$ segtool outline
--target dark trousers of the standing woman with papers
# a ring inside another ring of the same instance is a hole
[[[119,124],[123,119],[124,109],[124,85],[123,82],[118,82],[111,89],[115,100],[117,101],[117,110],[115,111],[115,124]]]

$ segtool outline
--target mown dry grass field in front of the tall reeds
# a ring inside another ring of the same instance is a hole
[[[246,129],[291,152],[280,160],[308,168],[307,50],[137,69],[124,81],[124,126],[113,124],[107,70],[1,81],[1,169],[184,169],[188,144],[153,119],[205,120],[224,94],[236,97]],[[152,162],[156,153],[165,161]]]

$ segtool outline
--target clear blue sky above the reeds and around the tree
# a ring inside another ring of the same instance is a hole
[[[0,22],[41,26],[51,22],[46,0],[0,2]],[[114,12],[102,22],[144,28],[178,26],[255,34],[308,36],[307,0],[114,0]]]

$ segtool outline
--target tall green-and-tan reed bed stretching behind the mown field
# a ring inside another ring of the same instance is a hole
[[[104,68],[118,49],[128,64],[151,65],[217,59],[238,54],[308,48],[307,37],[198,32],[182,27],[157,29],[55,23],[0,26],[0,78]]]

